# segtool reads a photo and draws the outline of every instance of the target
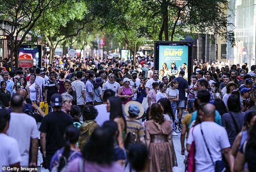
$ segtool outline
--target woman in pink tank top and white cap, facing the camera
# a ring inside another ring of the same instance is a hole
[[[123,80],[123,85],[118,89],[118,97],[122,100],[122,109],[123,109],[123,114],[125,114],[124,111],[124,106],[126,103],[129,101],[132,101],[132,98],[134,97],[134,92],[132,86],[130,86],[130,79],[129,78],[124,78]]]

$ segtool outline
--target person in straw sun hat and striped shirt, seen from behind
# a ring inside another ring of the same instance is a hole
[[[132,135],[132,142],[141,142],[145,144],[145,129],[143,124],[138,120],[144,114],[144,107],[137,101],[129,101],[124,107],[126,117],[126,133]]]

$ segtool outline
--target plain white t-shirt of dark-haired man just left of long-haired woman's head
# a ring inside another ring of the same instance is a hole
[[[94,108],[97,109],[98,111],[98,115],[95,121],[99,126],[102,126],[105,121],[109,120],[110,113],[107,112],[107,105],[106,104],[96,105],[94,106]]]

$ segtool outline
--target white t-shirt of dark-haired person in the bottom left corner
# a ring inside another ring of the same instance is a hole
[[[21,155],[19,153],[19,145],[17,141],[4,133],[0,133],[0,155],[1,168],[2,166],[10,166],[17,162],[21,162]]]

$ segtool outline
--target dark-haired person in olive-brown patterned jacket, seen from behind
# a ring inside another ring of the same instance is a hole
[[[84,146],[89,141],[92,132],[95,130],[95,128],[99,127],[95,121],[98,111],[92,105],[86,105],[82,111],[82,115],[84,122],[79,128],[80,138],[78,141],[78,147],[80,150],[84,149]]]

